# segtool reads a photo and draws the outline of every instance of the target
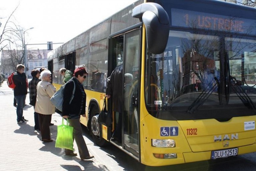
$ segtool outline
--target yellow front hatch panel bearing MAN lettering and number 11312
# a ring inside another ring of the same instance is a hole
[[[245,122],[255,121],[256,116],[232,118],[226,122],[215,119],[178,121],[192,152],[219,150],[252,145],[256,140],[256,130],[245,130]],[[188,131],[196,129],[196,135],[188,135]],[[238,136],[237,138],[232,138]],[[221,140],[214,142],[214,137]],[[227,147],[223,147],[228,142]],[[238,150],[240,154],[240,150]]]

